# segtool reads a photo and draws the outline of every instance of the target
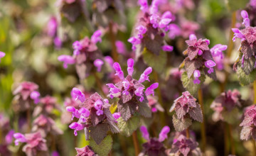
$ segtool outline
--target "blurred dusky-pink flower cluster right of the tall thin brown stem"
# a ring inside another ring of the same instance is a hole
[[[227,121],[228,118],[224,117],[232,116],[230,113],[235,113],[234,116],[237,116],[238,108],[241,107],[241,104],[241,94],[238,90],[223,92],[210,105],[210,108],[215,111],[213,113],[213,121]]]

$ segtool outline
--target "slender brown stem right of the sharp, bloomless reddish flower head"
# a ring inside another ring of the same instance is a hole
[[[202,89],[198,90],[198,101],[203,113],[203,91]],[[205,116],[203,113],[203,123],[201,123],[201,137],[202,137],[202,152],[206,152],[206,126],[205,126]]]

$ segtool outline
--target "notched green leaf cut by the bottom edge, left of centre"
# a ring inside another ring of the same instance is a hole
[[[111,135],[107,135],[107,137],[102,140],[100,145],[97,145],[94,140],[90,139],[90,147],[92,147],[92,150],[100,156],[108,155],[110,150],[112,149],[112,145],[113,139]]]

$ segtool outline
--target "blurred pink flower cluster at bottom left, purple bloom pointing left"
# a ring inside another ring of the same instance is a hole
[[[23,146],[22,151],[26,152],[26,155],[36,156],[36,154],[40,151],[47,151],[48,147],[46,145],[46,140],[42,138],[41,133],[14,133],[15,145],[18,143],[26,143]]]

